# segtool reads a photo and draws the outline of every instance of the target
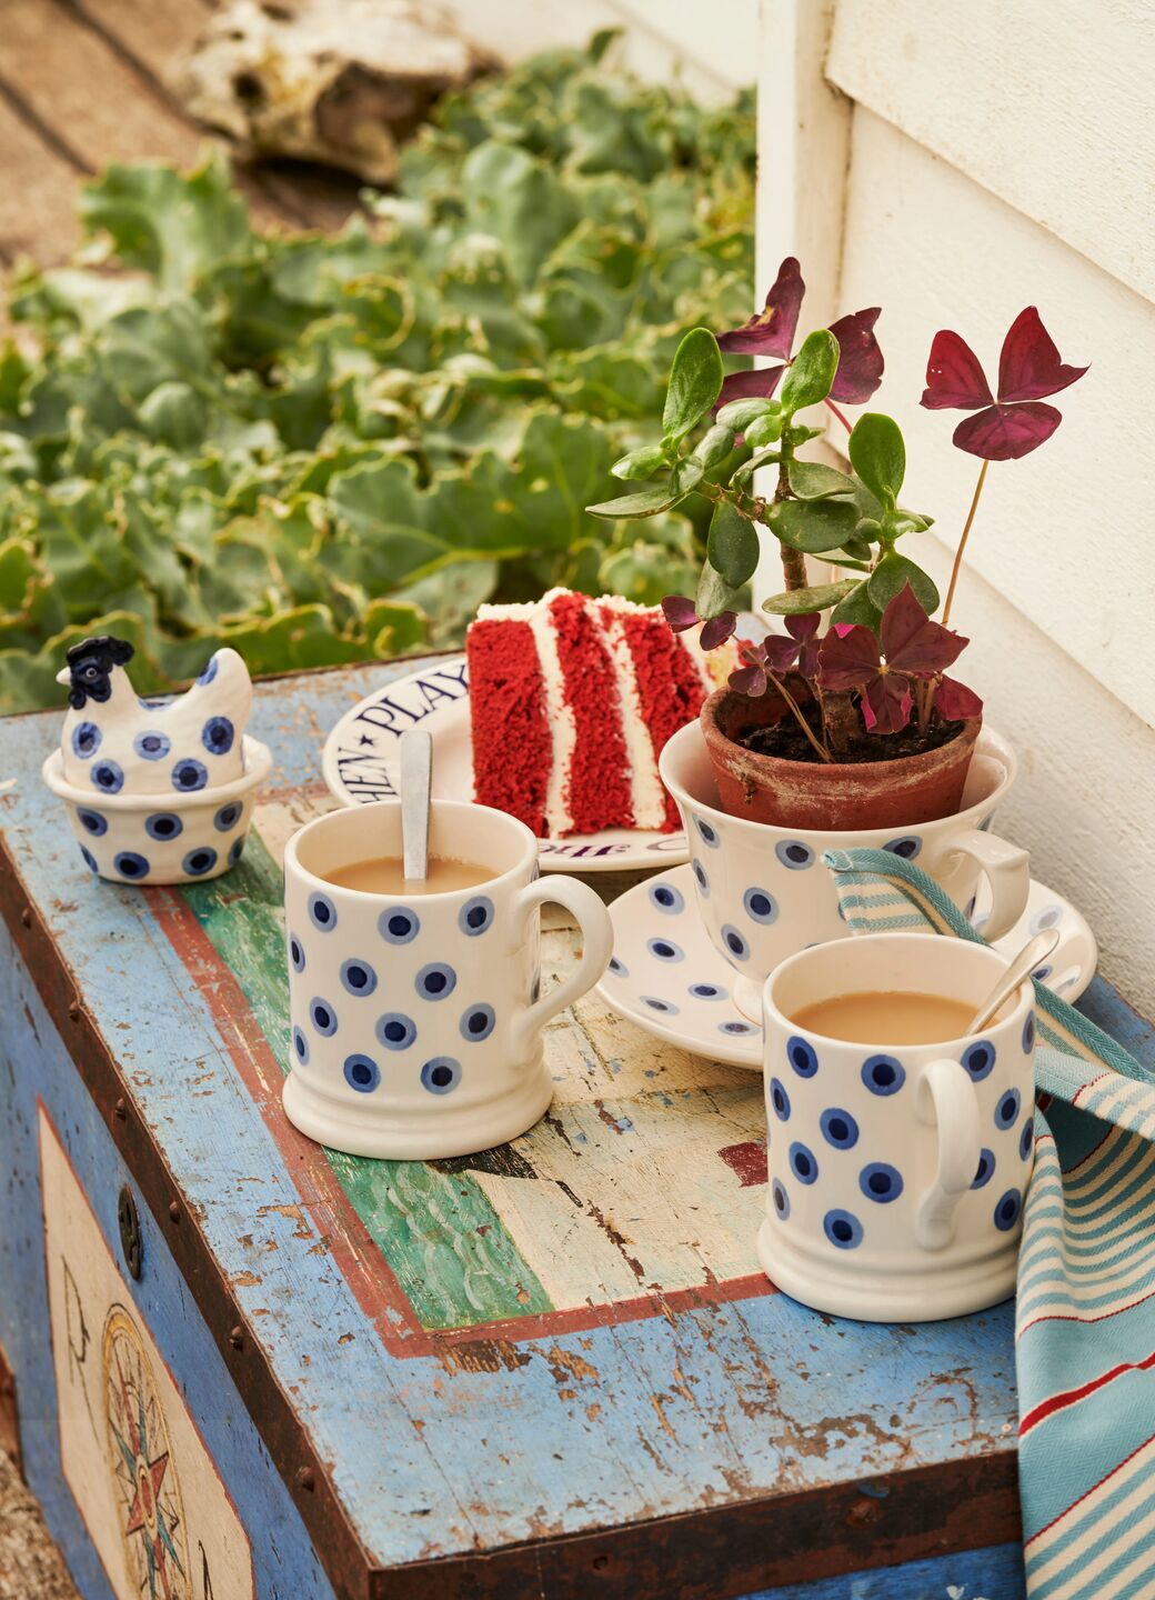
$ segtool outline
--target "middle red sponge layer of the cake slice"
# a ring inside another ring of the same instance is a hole
[[[629,757],[617,677],[585,595],[560,594],[549,606],[573,707],[578,742],[570,762],[570,816],[576,834],[632,827]]]

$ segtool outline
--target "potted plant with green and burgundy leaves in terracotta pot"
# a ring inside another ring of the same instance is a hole
[[[1043,397],[1086,368],[1059,360],[1033,306],[1003,341],[997,395],[957,333],[934,336],[921,403],[971,411],[953,443],[982,461],[934,621],[939,590],[899,550],[905,534],[931,526],[929,517],[899,504],[902,432],[877,411],[851,427],[841,411],[867,402],[881,381],[878,307],[808,334],[792,355],[803,294],[798,262],[789,258],[765,309],[745,326],[721,338],[707,328],[688,333],[670,368],[662,438],[613,467],[621,478],[648,482],[589,509],[600,517],[653,517],[688,494],[713,502],[697,597],[664,602],[670,627],[701,627],[705,650],[734,635],[763,544],[777,544],[784,589],[763,608],[784,619],[785,634],[742,643],[729,686],[702,709],[728,811],[817,829],[949,816],[960,805],[982,723],[981,699],[947,669],[968,643],[949,622],[987,469],[1049,438],[1061,414]],[[774,357],[777,365],[725,376],[723,350]],[[816,405],[848,429],[851,472],[801,458],[822,432],[800,419]],[[745,459],[726,474],[739,443]],[[766,498],[753,475],[771,466],[776,486]],[[808,555],[843,576],[811,586]]]

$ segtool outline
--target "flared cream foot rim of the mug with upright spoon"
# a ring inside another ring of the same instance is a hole
[[[282,1086],[285,1115],[298,1133],[342,1155],[394,1162],[440,1162],[509,1144],[541,1122],[552,1099],[554,1080],[544,1056],[496,1099],[454,1110],[430,1107],[421,1115],[389,1118],[368,1106],[346,1104],[315,1090],[296,1070]]]

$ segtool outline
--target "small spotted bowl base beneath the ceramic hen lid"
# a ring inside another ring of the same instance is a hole
[[[272,768],[272,754],[259,739],[246,734],[243,752],[240,778],[184,794],[78,789],[64,779],[59,750],[45,762],[43,779],[64,802],[90,872],[136,886],[200,883],[240,861],[256,790]]]

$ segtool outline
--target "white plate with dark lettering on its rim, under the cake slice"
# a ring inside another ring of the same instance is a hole
[[[370,694],[325,741],[322,771],[342,805],[392,800],[400,782],[397,746],[406,728],[434,736],[434,795],[474,798],[466,658],[453,656]],[[542,870],[637,872],[688,861],[686,835],[613,827],[601,834],[542,838]]]

